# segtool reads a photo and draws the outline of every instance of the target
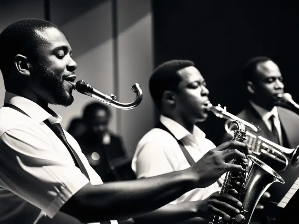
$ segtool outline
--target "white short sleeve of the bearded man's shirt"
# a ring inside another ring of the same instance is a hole
[[[46,133],[30,127],[0,136],[0,186],[44,211],[50,218],[89,179],[64,161]]]

